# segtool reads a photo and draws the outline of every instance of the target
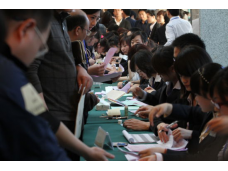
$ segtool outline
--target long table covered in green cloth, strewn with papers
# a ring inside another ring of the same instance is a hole
[[[116,86],[117,83],[112,84],[112,86]],[[101,92],[102,90],[105,91],[105,87],[106,86],[110,86],[110,84],[101,84],[101,88],[94,88],[94,86],[92,87],[92,90],[94,90],[95,92]],[[99,95],[99,97],[101,97]],[[120,101],[124,101],[126,100],[126,96],[123,96],[119,99]],[[86,103],[86,102],[85,102]],[[89,112],[89,116],[87,119],[87,123],[84,126],[84,133],[83,133],[83,142],[88,145],[89,147],[93,147],[94,146],[94,141],[96,138],[96,134],[97,134],[97,130],[99,128],[99,126],[101,126],[106,132],[109,133],[110,138],[112,140],[112,142],[127,142],[127,139],[125,139],[124,135],[122,134],[123,130],[126,130],[126,128],[124,128],[123,126],[118,124],[118,120],[107,120],[106,118],[101,118],[100,116],[102,114],[104,114],[106,111],[96,111],[96,107],[93,108],[93,110],[91,110]],[[135,116],[131,116],[132,113],[128,113],[128,119],[131,118],[136,118],[136,119],[140,119],[137,118]],[[124,111],[121,110],[121,116],[124,116]],[[126,119],[122,119],[123,122]],[[129,133],[148,133],[148,131],[131,131],[131,130],[127,130]],[[105,148],[105,150],[113,155],[115,155],[114,159],[109,159],[109,160],[113,160],[113,161],[126,161],[126,157],[125,155],[120,152],[116,147],[114,147],[114,150]],[[81,160],[85,160],[83,157],[81,157]]]

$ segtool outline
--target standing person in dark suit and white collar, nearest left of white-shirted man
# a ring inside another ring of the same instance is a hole
[[[154,10],[147,10],[146,15],[148,21],[149,38],[151,40],[154,40],[155,34],[157,32],[157,29],[160,27],[160,24],[156,20]]]

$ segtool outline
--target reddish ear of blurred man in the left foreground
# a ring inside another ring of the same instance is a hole
[[[17,39],[21,42],[22,38],[28,36],[31,33],[34,34],[34,27],[36,27],[36,20],[30,18],[23,21],[16,29]]]

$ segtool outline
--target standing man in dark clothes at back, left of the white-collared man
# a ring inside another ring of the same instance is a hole
[[[139,20],[136,21],[135,27],[138,27],[141,29],[141,31],[144,31],[148,37],[149,36],[149,30],[148,30],[148,21],[147,21],[146,9],[139,9],[138,15],[139,15]]]

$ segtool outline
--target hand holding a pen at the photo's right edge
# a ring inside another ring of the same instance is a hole
[[[220,116],[218,118],[212,119],[207,124],[209,129],[217,132],[219,134],[228,134],[228,117],[227,116]]]

